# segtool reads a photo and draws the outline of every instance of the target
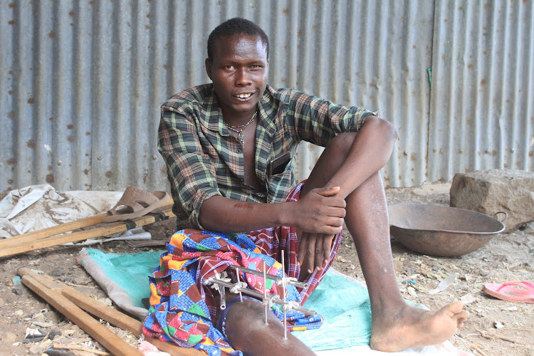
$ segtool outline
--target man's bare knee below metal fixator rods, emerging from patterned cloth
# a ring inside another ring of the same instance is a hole
[[[291,333],[284,339],[283,324],[270,311],[266,325],[265,308],[254,300],[244,299],[231,305],[226,316],[226,335],[230,345],[244,355],[315,355]]]

